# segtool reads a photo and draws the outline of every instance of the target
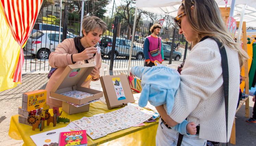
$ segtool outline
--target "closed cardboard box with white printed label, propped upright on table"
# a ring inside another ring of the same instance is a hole
[[[126,75],[102,76],[100,83],[108,108],[133,103],[133,94]]]

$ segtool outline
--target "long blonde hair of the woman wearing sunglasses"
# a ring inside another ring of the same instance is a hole
[[[193,11],[191,10],[192,5],[194,5]],[[199,36],[192,42],[192,47],[199,42],[202,36],[215,37],[223,45],[225,44],[238,52],[240,67],[242,67],[248,55],[231,37],[215,0],[185,0],[181,9],[186,12],[188,22]]]

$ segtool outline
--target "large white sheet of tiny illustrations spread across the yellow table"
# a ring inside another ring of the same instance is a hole
[[[106,114],[83,117],[73,121],[73,123],[81,129],[86,130],[87,135],[94,140],[107,134],[141,124],[151,117],[152,115],[146,114],[134,106],[126,106]]]

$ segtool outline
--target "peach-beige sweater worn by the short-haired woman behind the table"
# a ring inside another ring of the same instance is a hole
[[[49,56],[49,65],[53,68],[57,68],[54,73],[51,75],[45,90],[47,90],[47,105],[52,107],[62,107],[62,101],[57,99],[52,99],[50,97],[50,91],[53,88],[56,81],[60,78],[63,70],[66,68],[67,65],[73,64],[71,61],[71,54],[76,54],[77,50],[75,48],[74,39],[65,39],[63,42],[58,44],[58,47],[54,52],[51,52]],[[101,55],[100,53],[96,53],[93,57],[95,58],[96,67],[100,69],[101,67]],[[75,64],[82,64],[85,63],[84,61],[78,61]],[[90,75],[89,75],[90,76]],[[85,81],[82,84],[82,87],[90,88],[90,81],[92,80],[92,76],[90,79]]]

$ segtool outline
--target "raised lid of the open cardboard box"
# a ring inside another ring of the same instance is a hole
[[[90,72],[94,69],[93,63],[73,64],[66,66],[58,81],[54,84],[52,92],[59,89],[76,86],[81,87]]]

